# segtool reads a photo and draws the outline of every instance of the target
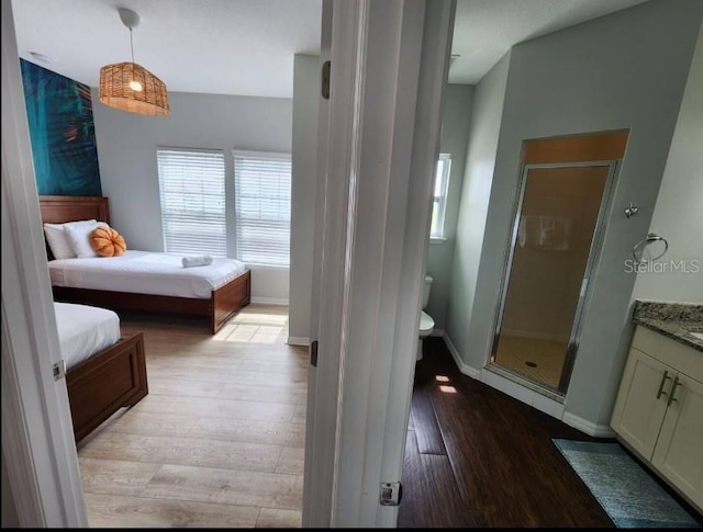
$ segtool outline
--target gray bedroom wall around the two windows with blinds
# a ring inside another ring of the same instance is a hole
[[[292,100],[169,93],[168,117],[145,117],[99,102],[93,115],[102,193],[110,197],[112,225],[127,248],[163,251],[156,147],[222,149],[225,155],[227,218],[234,220],[232,150],[291,151]],[[234,224],[228,226],[234,257]],[[253,267],[252,296],[288,301],[287,268]]]

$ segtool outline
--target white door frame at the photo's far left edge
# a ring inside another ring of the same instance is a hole
[[[87,527],[10,0],[0,68],[3,464],[21,527]]]

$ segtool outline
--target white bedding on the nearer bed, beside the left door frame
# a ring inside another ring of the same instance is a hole
[[[112,310],[56,302],[54,309],[67,370],[120,340],[120,318]]]

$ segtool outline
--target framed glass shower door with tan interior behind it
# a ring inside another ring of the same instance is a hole
[[[491,363],[566,392],[615,161],[526,166]]]

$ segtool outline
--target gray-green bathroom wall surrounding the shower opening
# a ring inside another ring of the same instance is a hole
[[[652,0],[512,48],[473,309],[465,324],[467,365],[480,369],[489,355],[522,142],[631,128],[565,419],[609,425],[632,337],[635,275],[625,273],[624,261],[649,227],[702,12],[698,0]],[[631,201],[640,215],[627,219]]]

